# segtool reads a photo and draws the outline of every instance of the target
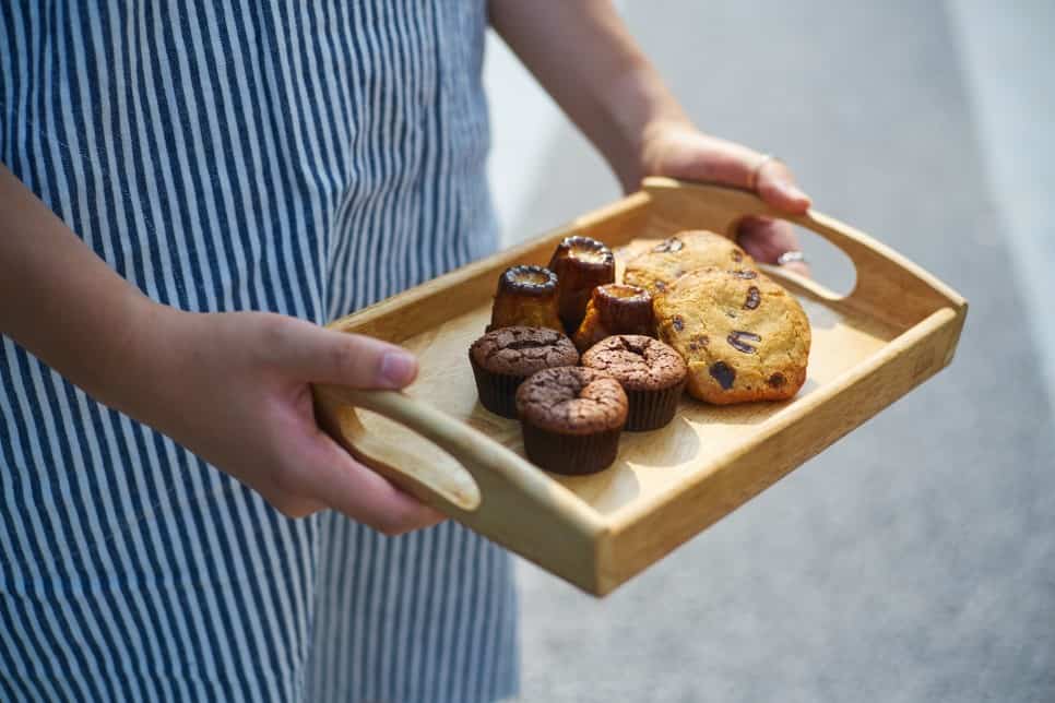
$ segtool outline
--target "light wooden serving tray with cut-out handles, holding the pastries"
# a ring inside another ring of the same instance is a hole
[[[566,227],[337,320],[332,327],[412,349],[420,376],[405,394],[318,386],[320,424],[398,486],[604,595],[952,359],[967,314],[956,291],[831,217],[783,217],[856,266],[845,297],[772,271],[813,326],[808,380],[794,400],[716,407],[686,395],[666,428],[625,432],[615,465],[600,474],[562,477],[528,462],[519,424],[477,403],[467,358],[489,321],[499,273],[545,265],[571,234],[618,248],[689,228],[731,236],[746,215],[782,217],[743,191],[650,178],[642,191]]]

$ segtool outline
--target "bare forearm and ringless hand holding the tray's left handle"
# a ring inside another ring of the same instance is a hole
[[[405,350],[276,314],[190,313],[118,276],[0,165],[0,333],[291,516],[323,507],[387,533],[438,515],[316,425],[309,382],[402,388]]]

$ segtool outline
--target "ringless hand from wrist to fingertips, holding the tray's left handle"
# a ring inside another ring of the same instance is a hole
[[[405,349],[294,318],[188,313],[154,306],[140,347],[151,358],[129,410],[292,517],[323,508],[394,535],[442,516],[356,462],[315,420],[309,383],[401,389]]]

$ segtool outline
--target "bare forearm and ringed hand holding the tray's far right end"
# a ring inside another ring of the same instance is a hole
[[[755,186],[771,205],[801,213],[809,198],[779,160],[692,126],[609,0],[490,0],[495,29],[605,156],[625,191],[649,175]],[[796,249],[790,228],[747,224],[742,243],[762,261]]]

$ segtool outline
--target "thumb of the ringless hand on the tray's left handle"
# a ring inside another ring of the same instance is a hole
[[[281,319],[268,342],[273,358],[299,378],[359,389],[401,389],[417,377],[417,360],[403,347],[360,334]]]

